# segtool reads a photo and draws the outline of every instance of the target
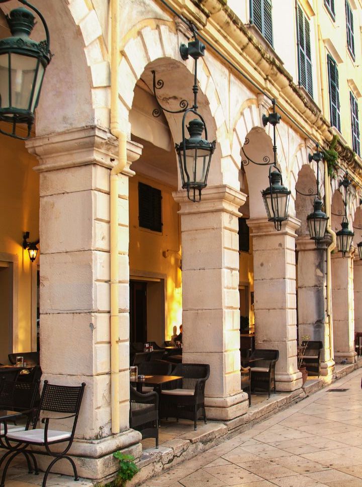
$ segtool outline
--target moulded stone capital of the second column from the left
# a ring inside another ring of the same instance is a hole
[[[202,190],[201,201],[197,204],[188,199],[186,190],[174,191],[172,196],[180,204],[179,213],[182,215],[227,211],[235,216],[241,216],[239,207],[247,198],[246,194],[226,184],[207,186]]]

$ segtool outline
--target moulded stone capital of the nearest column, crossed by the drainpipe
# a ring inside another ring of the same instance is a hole
[[[118,162],[117,138],[97,126],[34,137],[26,142],[26,147],[38,158],[39,165],[34,169],[39,173],[88,164],[98,164],[112,169]],[[124,174],[134,174],[129,166],[141,154],[140,144],[127,141],[127,165]]]

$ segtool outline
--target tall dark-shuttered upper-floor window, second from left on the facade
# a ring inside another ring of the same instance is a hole
[[[312,59],[309,21],[298,5],[297,19],[298,76],[299,84],[313,96]]]

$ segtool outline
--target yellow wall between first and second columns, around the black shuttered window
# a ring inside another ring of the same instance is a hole
[[[138,183],[142,182],[162,191],[162,232],[142,228],[138,224]],[[134,176],[129,182],[130,200],[130,274],[145,276],[163,274],[166,278],[165,339],[172,335],[172,327],[182,323],[182,283],[180,270],[180,232],[178,204],[170,188],[151,179]],[[166,257],[164,257],[164,255]]]

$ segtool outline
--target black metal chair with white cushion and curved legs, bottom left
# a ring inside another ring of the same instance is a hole
[[[26,431],[8,432],[5,436],[6,441],[17,442],[17,447],[11,450],[10,458],[5,464],[1,480],[2,487],[5,484],[6,474],[10,463],[19,454],[25,453],[25,456],[29,455],[30,458],[33,460],[35,473],[38,473],[38,464],[36,458],[31,449],[28,448],[31,445],[45,447],[45,451],[37,451],[37,454],[49,455],[54,457],[54,459],[50,462],[49,466],[45,470],[42,484],[43,487],[45,487],[46,485],[46,481],[51,468],[57,461],[61,460],[62,458],[67,459],[70,462],[73,467],[74,480],[78,480],[79,477],[75,463],[70,456],[66,455],[66,453],[71,447],[74,439],[74,433],[78,420],[84,387],[85,383],[82,383],[81,386],[57,386],[54,384],[49,384],[48,381],[44,381],[44,387],[40,398],[40,404],[34,418],[33,428]],[[54,413],[66,413],[68,416],[64,416],[61,418],[43,417],[42,423],[45,423],[45,428],[37,428],[36,425],[40,418],[40,414],[44,411]],[[59,420],[66,418],[73,418],[71,431],[57,431],[49,429],[50,420]],[[50,450],[50,445],[64,442],[66,442],[67,444],[63,451],[55,452]]]

